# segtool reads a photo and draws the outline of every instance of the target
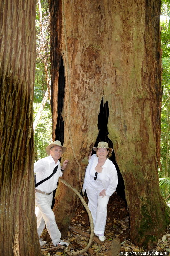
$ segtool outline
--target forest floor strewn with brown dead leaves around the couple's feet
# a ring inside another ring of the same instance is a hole
[[[169,231],[169,233],[168,233]],[[117,256],[121,252],[168,252],[170,253],[170,230],[155,244],[150,244],[148,250],[139,248],[130,241],[129,216],[125,201],[114,193],[107,205],[107,221],[105,228],[105,241],[101,242],[94,236],[91,247],[87,252],[78,254],[81,256]],[[65,241],[69,242],[69,251],[76,252],[83,249],[90,236],[89,219],[84,206],[79,202],[74,217],[71,220],[68,236]],[[64,246],[54,247],[47,243],[41,248],[42,255],[66,256]],[[133,255],[131,253],[129,255]],[[137,255],[137,253],[135,253]],[[122,253],[122,255],[128,255]],[[150,254],[151,255],[151,254]],[[156,255],[156,254],[155,254]]]

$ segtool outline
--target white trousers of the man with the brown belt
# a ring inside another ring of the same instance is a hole
[[[36,212],[38,236],[40,237],[44,227],[46,226],[52,243],[54,245],[58,244],[61,238],[61,233],[57,227],[54,212],[51,209],[52,193],[50,195],[44,195],[35,192],[35,203],[38,206]]]

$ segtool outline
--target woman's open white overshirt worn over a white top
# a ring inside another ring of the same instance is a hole
[[[98,157],[96,156],[97,156],[96,154],[91,156],[89,160],[89,164],[86,168],[84,184],[83,184],[84,192],[89,183],[90,173],[94,170],[94,168],[98,163]],[[118,184],[118,175],[117,175],[116,167],[113,164],[113,162],[107,158],[102,168],[103,168],[101,173],[102,185],[104,189],[106,189],[106,196],[111,196],[115,192]]]

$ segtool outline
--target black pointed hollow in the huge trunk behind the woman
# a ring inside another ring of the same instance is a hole
[[[103,99],[101,100],[101,104],[100,104],[100,113],[98,115],[98,129],[99,129],[99,134],[97,136],[96,142],[94,144],[94,147],[97,147],[98,143],[100,141],[105,141],[108,143],[109,148],[113,148],[113,143],[112,141],[108,138],[108,129],[107,129],[107,124],[108,124],[108,118],[109,118],[109,106],[108,106],[108,102],[106,101],[106,103],[103,106]],[[92,154],[94,154],[94,150],[92,152]],[[114,153],[114,148],[113,148],[113,152],[112,152],[112,156],[109,158],[113,164],[116,167],[117,173],[118,173],[118,185],[117,185],[117,189],[116,192],[118,193],[119,196],[121,196],[122,198],[125,198],[125,185],[124,185],[124,181],[123,181],[123,177],[120,173],[118,164],[116,163],[116,157],[115,157],[115,153]]]

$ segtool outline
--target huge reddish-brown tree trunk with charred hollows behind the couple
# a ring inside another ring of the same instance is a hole
[[[159,15],[156,0],[50,0],[52,114],[53,127],[60,131],[55,136],[54,130],[53,138],[64,136],[67,147],[64,159],[70,164],[64,179],[81,190],[103,99],[108,103],[109,141],[125,183],[131,238],[140,246],[156,241],[168,222],[157,169],[162,96]],[[58,101],[61,84],[63,102]],[[76,200],[59,184],[54,212],[63,235]]]

